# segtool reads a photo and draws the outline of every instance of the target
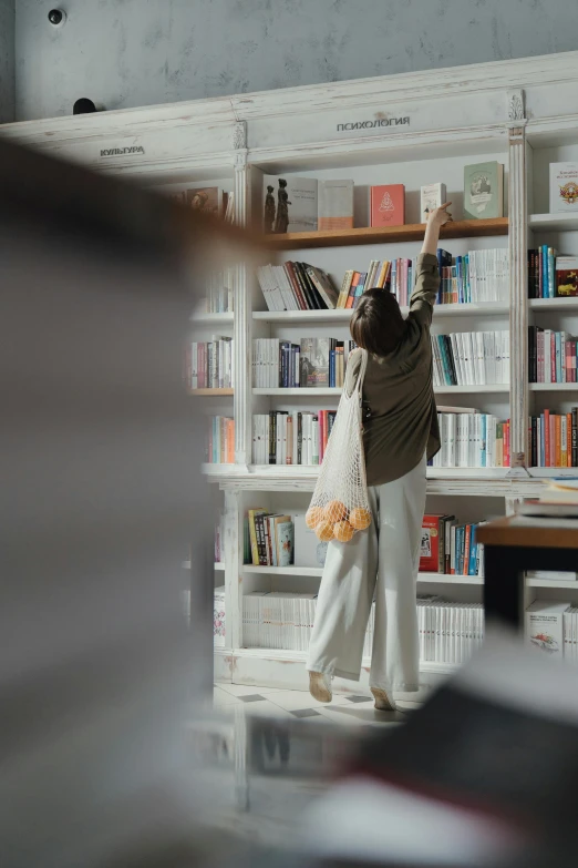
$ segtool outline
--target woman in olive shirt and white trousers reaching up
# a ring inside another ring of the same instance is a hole
[[[394,691],[419,688],[415,602],[425,509],[426,461],[440,449],[430,326],[440,287],[440,228],[447,207],[432,211],[416,262],[410,314],[383,289],[361,296],[351,335],[368,353],[363,381],[363,448],[373,521],[351,542],[329,543],[309,646],[309,688],[331,702],[331,678],[359,681],[368,619],[375,600],[370,688],[375,707],[395,708]],[[348,365],[353,390],[361,353]]]

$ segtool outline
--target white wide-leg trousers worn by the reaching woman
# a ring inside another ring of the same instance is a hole
[[[351,542],[329,543],[307,668],[359,681],[372,601],[375,624],[370,686],[419,688],[415,603],[425,457],[401,479],[369,489],[370,528]]]

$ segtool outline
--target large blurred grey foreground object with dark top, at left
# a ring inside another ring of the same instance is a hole
[[[189,275],[245,236],[1,141],[0,222],[0,862],[180,865],[213,655],[182,346]]]

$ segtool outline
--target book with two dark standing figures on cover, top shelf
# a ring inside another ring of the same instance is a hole
[[[264,176],[264,232],[316,232],[318,182],[296,175]]]

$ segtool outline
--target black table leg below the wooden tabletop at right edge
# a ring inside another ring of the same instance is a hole
[[[524,549],[484,548],[484,609],[486,624],[502,622],[524,630]]]

